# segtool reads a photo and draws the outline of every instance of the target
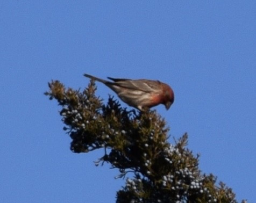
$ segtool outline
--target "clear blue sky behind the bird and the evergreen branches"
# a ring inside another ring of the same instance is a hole
[[[84,73],[170,84],[175,103],[156,107],[170,142],[187,132],[200,169],[256,202],[255,1],[2,1],[0,11],[1,202],[115,202],[118,171],[94,165],[101,150],[69,150],[60,107],[43,95],[51,79],[86,87]]]

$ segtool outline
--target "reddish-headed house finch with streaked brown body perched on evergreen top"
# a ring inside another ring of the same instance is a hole
[[[97,78],[88,74],[84,76],[95,81],[102,82],[111,90],[117,93],[118,97],[126,104],[145,111],[147,108],[165,105],[168,110],[174,102],[174,93],[169,85],[160,81],[151,81],[149,79],[123,79],[111,78],[111,81]]]

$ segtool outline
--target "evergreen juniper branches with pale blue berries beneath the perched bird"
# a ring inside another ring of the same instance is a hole
[[[188,135],[173,144],[169,128],[156,111],[127,111],[109,97],[103,104],[95,96],[94,81],[83,90],[66,89],[52,81],[45,95],[61,106],[63,127],[72,139],[70,150],[88,153],[103,148],[96,161],[119,169],[125,178],[116,202],[237,202],[231,188],[198,169],[198,155],[186,148]]]

